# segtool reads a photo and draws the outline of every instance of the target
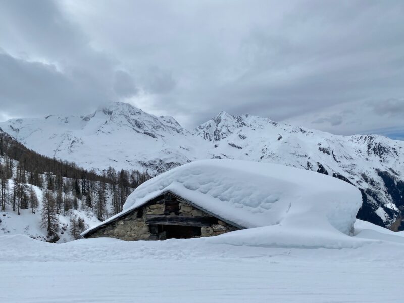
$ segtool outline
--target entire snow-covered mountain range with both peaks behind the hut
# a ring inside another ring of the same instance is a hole
[[[12,119],[0,127],[41,154],[85,168],[158,174],[197,159],[273,162],[328,174],[359,187],[359,217],[401,224],[404,142],[378,135],[337,136],[251,115],[221,112],[192,131],[174,118],[113,103],[83,117]],[[398,219],[398,220],[397,220]]]

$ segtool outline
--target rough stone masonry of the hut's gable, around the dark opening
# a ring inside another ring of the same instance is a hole
[[[214,218],[208,213],[184,201],[178,201],[178,204],[174,203],[174,208],[172,207],[172,201],[170,205],[171,207],[166,206],[166,202],[163,199],[155,203],[146,204],[140,209],[119,218],[117,221],[99,228],[95,232],[87,235],[86,238],[111,237],[125,241],[165,240],[167,238],[166,233],[159,232],[157,225],[146,224],[146,215],[179,215]],[[210,226],[200,227],[200,237],[216,236],[239,229],[219,219],[213,221],[214,223]]]

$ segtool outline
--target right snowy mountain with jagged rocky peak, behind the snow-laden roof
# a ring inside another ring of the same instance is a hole
[[[214,158],[279,163],[354,184],[363,194],[362,219],[390,226],[404,208],[402,141],[377,135],[337,136],[224,112],[195,132],[211,142]]]

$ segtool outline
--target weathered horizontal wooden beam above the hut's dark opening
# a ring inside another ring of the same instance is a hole
[[[213,217],[191,217],[176,215],[146,215],[146,224],[182,225],[182,226],[210,226],[217,223]]]

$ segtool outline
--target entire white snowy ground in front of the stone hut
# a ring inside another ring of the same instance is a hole
[[[275,242],[271,227],[149,242],[1,236],[0,302],[401,302],[404,235],[355,227]]]

